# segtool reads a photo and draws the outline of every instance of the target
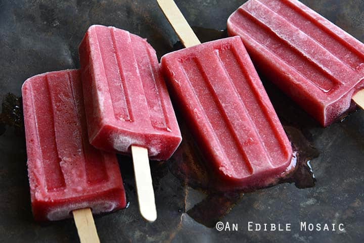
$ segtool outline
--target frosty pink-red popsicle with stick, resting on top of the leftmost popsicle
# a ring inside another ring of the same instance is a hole
[[[149,160],[167,160],[181,135],[155,50],[115,27],[89,27],[80,47],[89,142],[132,153],[142,215],[157,217]]]

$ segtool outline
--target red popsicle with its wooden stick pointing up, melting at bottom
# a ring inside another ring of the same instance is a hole
[[[287,135],[240,37],[201,44],[173,1],[157,1],[187,47],[164,55],[173,102],[226,189],[269,185],[294,169]]]

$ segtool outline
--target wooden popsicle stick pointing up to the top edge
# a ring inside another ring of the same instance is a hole
[[[185,47],[201,44],[173,0],[157,0],[157,2]]]

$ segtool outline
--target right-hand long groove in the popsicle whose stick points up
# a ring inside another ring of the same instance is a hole
[[[232,83],[232,86],[239,97],[239,101],[241,102],[242,107],[244,107],[243,110],[245,111],[246,116],[249,117],[250,126],[254,127],[255,135],[266,152],[264,154],[268,156],[268,158],[266,158],[266,163],[269,163],[271,168],[274,168],[276,166],[275,161],[277,162],[275,158],[289,157],[291,156],[291,153],[286,150],[287,140],[284,139],[285,136],[281,135],[282,130],[280,127],[276,126],[277,122],[279,122],[277,116],[272,116],[270,114],[271,112],[269,112],[273,109],[271,104],[267,103],[264,96],[259,92],[262,87],[259,87],[259,85],[253,81],[254,74],[249,73],[249,70],[247,69],[248,66],[234,46],[230,45],[228,48],[218,50],[216,54],[219,56],[219,61],[225,70],[226,77]],[[237,62],[234,63],[231,60],[236,60]],[[243,80],[241,77],[243,77]],[[245,94],[244,99],[242,99],[241,95],[243,93]],[[254,111],[258,109],[264,114],[263,117],[266,119],[254,117],[254,114],[256,114]],[[235,127],[235,129],[239,129],[239,127]],[[271,136],[271,134],[273,136]],[[275,137],[275,139],[267,139],[268,137]],[[245,146],[246,144],[243,144],[243,147]],[[283,151],[285,151],[286,154],[282,153]]]

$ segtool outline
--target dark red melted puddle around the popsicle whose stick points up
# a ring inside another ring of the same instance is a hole
[[[181,119],[179,119],[180,121]],[[293,149],[297,152],[295,170],[287,176],[265,186],[270,187],[280,183],[294,183],[298,188],[309,188],[315,185],[316,179],[310,167],[310,160],[319,153],[309,144],[303,134],[296,128],[284,127]],[[207,163],[191,134],[187,125],[181,124],[184,140],[171,158],[169,170],[184,184],[204,192],[206,198],[196,204],[187,213],[197,222],[207,227],[215,226],[226,213],[243,197],[246,192],[253,192],[264,187],[252,187],[234,191],[226,191],[220,187],[220,181],[209,173]],[[186,131],[186,132],[185,132]]]

